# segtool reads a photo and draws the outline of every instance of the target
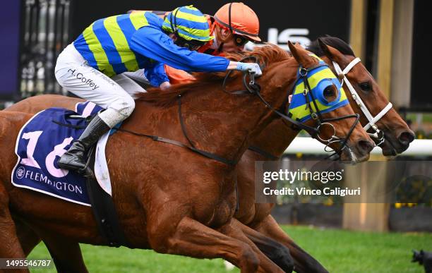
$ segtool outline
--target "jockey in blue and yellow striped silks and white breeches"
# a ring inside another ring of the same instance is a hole
[[[56,79],[66,90],[107,110],[90,122],[61,157],[59,166],[84,169],[85,152],[131,115],[133,93],[145,90],[121,73],[145,68],[151,83],[162,89],[169,87],[164,63],[185,71],[236,69],[261,74],[257,63],[193,51],[211,39],[206,18],[193,6],[174,9],[165,20],[143,11],[100,19],[86,28],[59,55]]]

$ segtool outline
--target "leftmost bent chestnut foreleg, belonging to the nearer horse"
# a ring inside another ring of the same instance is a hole
[[[172,222],[167,221],[166,224],[167,226],[157,222],[154,226],[152,224],[148,226],[150,245],[159,253],[201,259],[220,257],[232,262],[244,273],[258,272],[260,269],[260,260],[247,243],[224,234],[224,232],[231,232],[228,225],[221,233],[194,219],[184,217],[176,225],[175,230],[167,234],[167,230],[172,228]],[[262,269],[260,271],[263,272]],[[280,272],[280,270],[275,272]]]

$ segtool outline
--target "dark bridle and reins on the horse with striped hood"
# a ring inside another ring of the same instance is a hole
[[[252,61],[258,63],[258,59],[255,56],[246,56],[244,59],[241,59],[240,61],[245,61],[245,60],[252,60]],[[318,105],[316,103],[316,98],[314,97],[313,92],[311,92],[311,86],[309,85],[309,82],[308,82],[308,73],[310,73],[311,71],[313,71],[317,68],[323,67],[323,66],[327,66],[327,68],[328,68],[328,65],[324,62],[318,63],[316,66],[312,66],[311,68],[300,68],[299,77],[296,80],[296,83],[299,80],[304,81],[305,88],[304,88],[303,95],[305,96],[305,99],[306,99],[306,107],[308,107],[308,109],[309,109],[311,118],[316,121],[316,127],[308,126],[304,123],[301,123],[300,121],[298,121],[296,119],[292,119],[291,116],[282,113],[283,109],[287,109],[287,104],[289,103],[288,102],[288,97],[289,97],[288,94],[286,96],[285,102],[282,104],[282,107],[280,109],[275,109],[275,107],[272,107],[261,95],[261,93],[260,93],[261,87],[260,87],[260,85],[258,85],[258,83],[256,83],[255,74],[253,74],[253,73],[244,73],[243,74],[242,81],[243,81],[243,85],[246,88],[246,90],[238,90],[238,91],[230,91],[229,92],[225,88],[226,83],[227,83],[227,79],[229,78],[229,75],[232,73],[232,71],[229,71],[227,73],[227,75],[225,75],[224,81],[222,83],[222,89],[224,90],[224,92],[227,92],[230,95],[244,95],[244,94],[256,95],[260,99],[260,101],[263,102],[263,104],[265,104],[265,107],[268,107],[268,109],[270,109],[270,111],[277,114],[282,119],[289,121],[290,123],[292,123],[297,128],[303,129],[304,131],[308,132],[312,136],[312,138],[318,138],[322,142],[326,142],[326,145],[325,145],[326,151],[328,151],[327,149],[328,149],[329,145],[331,145],[332,143],[341,142],[340,147],[337,150],[335,150],[334,153],[332,154],[332,155],[335,155],[335,154],[340,155],[342,153],[342,151],[347,147],[347,141],[349,139],[349,136],[352,135],[356,124],[359,123],[360,115],[359,114],[349,114],[349,115],[340,116],[337,118],[323,119],[322,113],[321,113],[321,111],[318,108]],[[249,81],[247,81],[247,76],[249,76]],[[296,84],[294,84],[292,92],[288,92],[288,93],[292,94],[294,92],[295,86],[296,86]],[[315,108],[315,110],[313,109],[312,105]],[[349,119],[349,118],[355,118],[355,121],[352,124],[351,128],[349,128],[347,136],[345,138],[338,137],[336,135],[335,127],[330,122],[331,121],[340,121],[342,119]],[[330,126],[333,129],[332,136],[328,139],[323,139],[320,137],[320,128],[323,128],[324,126]],[[255,147],[253,147],[252,150],[257,150],[257,149],[255,149]]]

